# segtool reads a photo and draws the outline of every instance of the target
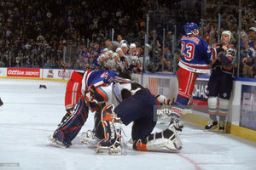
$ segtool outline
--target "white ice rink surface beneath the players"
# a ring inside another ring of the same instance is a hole
[[[39,88],[45,84],[47,88]],[[93,114],[67,149],[53,147],[49,136],[65,114],[66,82],[0,79],[0,170],[184,169],[254,170],[256,143],[226,133],[205,132],[203,126],[184,122],[183,149],[178,152],[96,154],[95,146],[80,143],[80,134],[93,127]],[[157,124],[160,132],[167,124]],[[125,140],[131,125],[123,127]]]

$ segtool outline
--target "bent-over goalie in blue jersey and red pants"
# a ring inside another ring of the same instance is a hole
[[[84,75],[73,71],[71,80],[67,82],[65,96],[67,114],[62,118],[61,124],[55,130],[51,140],[63,147],[71,145],[71,141],[86,122],[89,109],[90,111],[101,109],[99,103],[86,96],[89,88],[91,86],[94,88],[107,86],[117,76],[113,71],[85,71]]]

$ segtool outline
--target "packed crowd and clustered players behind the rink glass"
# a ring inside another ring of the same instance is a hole
[[[180,59],[183,26],[191,21],[201,26],[203,18],[202,36],[210,45],[218,42],[219,32],[233,32],[236,48],[241,48],[237,65],[241,77],[255,77],[256,4],[253,0],[241,2],[239,39],[238,3],[234,5],[232,0],[221,5],[209,0],[204,8],[199,8],[198,1],[185,0],[113,1],[111,5],[85,0],[0,0],[0,66],[174,71],[177,68],[173,65]],[[154,29],[149,30],[144,46],[146,14],[150,16],[149,27]],[[174,40],[173,26],[177,26]]]

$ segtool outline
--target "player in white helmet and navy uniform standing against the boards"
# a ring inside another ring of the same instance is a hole
[[[229,112],[230,94],[233,87],[233,70],[236,59],[236,48],[231,43],[233,39],[230,31],[223,31],[217,59],[212,60],[212,74],[208,82],[208,109],[210,121],[206,130],[217,128],[224,130],[224,121]],[[219,109],[218,109],[219,99]],[[219,123],[217,120],[219,116]]]

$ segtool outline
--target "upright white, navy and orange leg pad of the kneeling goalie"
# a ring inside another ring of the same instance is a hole
[[[102,110],[102,127],[105,138],[97,144],[96,153],[121,154],[122,152],[119,133],[114,126],[116,116],[113,109],[113,105],[107,105]]]

